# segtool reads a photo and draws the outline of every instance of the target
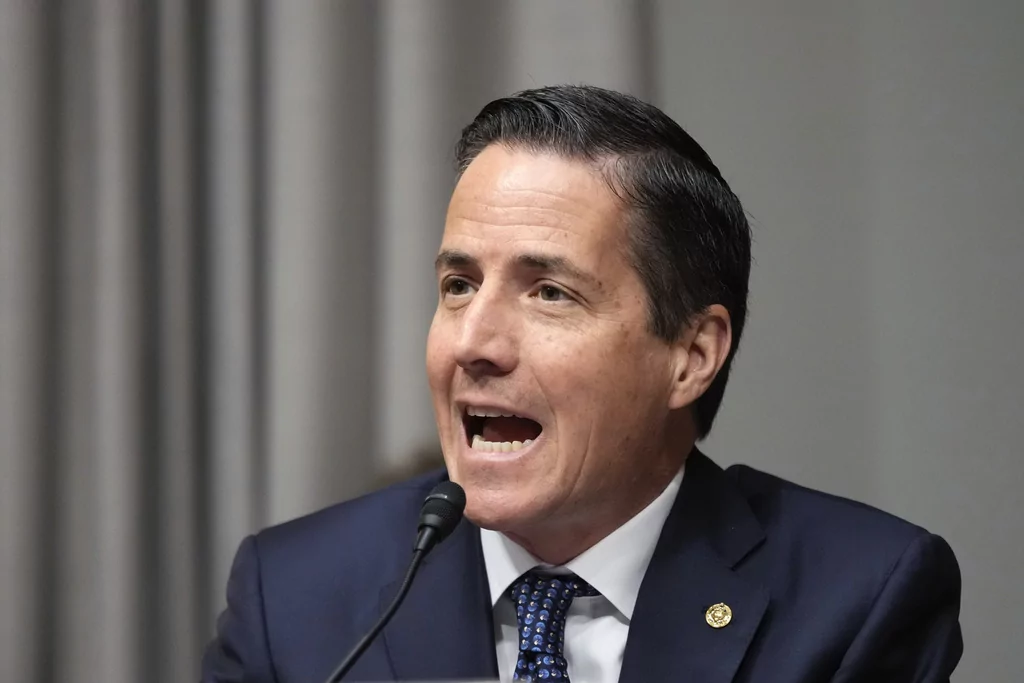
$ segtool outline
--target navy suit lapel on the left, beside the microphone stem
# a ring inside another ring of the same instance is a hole
[[[381,591],[381,611],[401,581]],[[396,680],[497,679],[495,631],[480,531],[463,520],[424,560],[384,629]]]

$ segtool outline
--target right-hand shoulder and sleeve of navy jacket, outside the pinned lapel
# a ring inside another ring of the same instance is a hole
[[[814,680],[924,680],[928,669],[935,674],[928,680],[938,681],[938,663],[941,680],[948,678],[962,651],[961,575],[943,539],[750,467],[726,475],[764,531],[759,550],[736,567],[771,596],[751,671],[759,663],[802,667],[775,653],[814,652]]]

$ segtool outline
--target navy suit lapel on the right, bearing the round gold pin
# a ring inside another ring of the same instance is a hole
[[[622,683],[729,683],[743,658],[768,594],[732,571],[764,540],[732,480],[694,449],[637,598]],[[716,603],[732,621],[712,628]]]

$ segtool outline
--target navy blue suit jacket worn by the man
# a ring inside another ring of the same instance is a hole
[[[322,683],[390,602],[443,472],[246,539],[204,683]],[[621,681],[945,681],[959,569],[937,536],[694,451],[644,577]],[[349,681],[497,679],[479,529],[428,556]],[[710,605],[732,622],[711,628]],[[578,683],[586,683],[579,681]]]

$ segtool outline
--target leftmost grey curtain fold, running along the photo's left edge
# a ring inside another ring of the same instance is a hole
[[[0,6],[0,678],[43,674],[49,636],[43,503],[51,472],[45,416],[51,318],[43,187],[51,173],[47,86],[52,27],[28,3]],[[28,454],[28,457],[20,455]]]

